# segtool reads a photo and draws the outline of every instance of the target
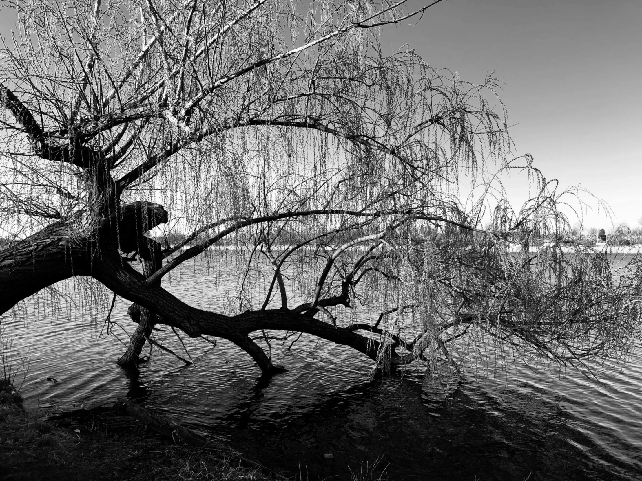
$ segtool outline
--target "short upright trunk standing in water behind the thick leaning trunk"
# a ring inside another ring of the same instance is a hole
[[[141,259],[141,264],[143,264],[143,276],[151,276],[162,267],[160,243],[147,237],[141,239],[139,258]],[[160,279],[155,281],[153,285],[160,285]],[[138,326],[129,341],[127,350],[116,360],[116,364],[120,366],[138,366],[141,363],[141,351],[145,341],[152,335],[152,328],[157,321],[157,316],[148,308],[139,304],[130,305],[127,309],[127,314],[132,318],[132,321],[138,323]]]

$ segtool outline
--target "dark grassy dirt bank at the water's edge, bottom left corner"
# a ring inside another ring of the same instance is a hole
[[[174,444],[117,405],[39,414],[0,404],[1,480],[285,479],[225,446]]]

